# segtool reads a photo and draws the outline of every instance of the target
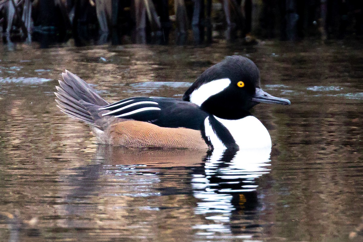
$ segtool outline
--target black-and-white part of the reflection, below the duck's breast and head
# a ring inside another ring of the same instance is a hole
[[[205,158],[204,169],[193,174],[193,195],[200,201],[196,214],[204,215],[215,224],[196,226],[209,233],[258,232],[256,180],[270,169],[271,148],[214,150]],[[254,222],[256,221],[256,222]]]

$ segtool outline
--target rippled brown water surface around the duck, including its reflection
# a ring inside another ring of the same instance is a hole
[[[363,48],[0,46],[0,241],[363,241]],[[181,97],[225,56],[251,58],[272,150],[97,145],[54,86],[68,69],[107,101]]]

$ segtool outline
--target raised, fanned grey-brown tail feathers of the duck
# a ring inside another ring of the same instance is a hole
[[[105,99],[101,98],[96,91],[81,78],[66,70],[62,73],[63,81],[59,81],[56,86],[58,103],[57,107],[62,112],[74,119],[81,120],[85,123],[99,127],[95,123],[98,114],[93,114],[94,106],[105,106],[109,104]]]

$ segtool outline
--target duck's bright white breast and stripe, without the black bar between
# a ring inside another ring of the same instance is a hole
[[[214,116],[231,133],[240,149],[271,148],[271,136],[265,126],[254,116],[229,120]],[[204,120],[205,136],[211,141],[213,148],[226,149],[209,123],[209,117]]]

